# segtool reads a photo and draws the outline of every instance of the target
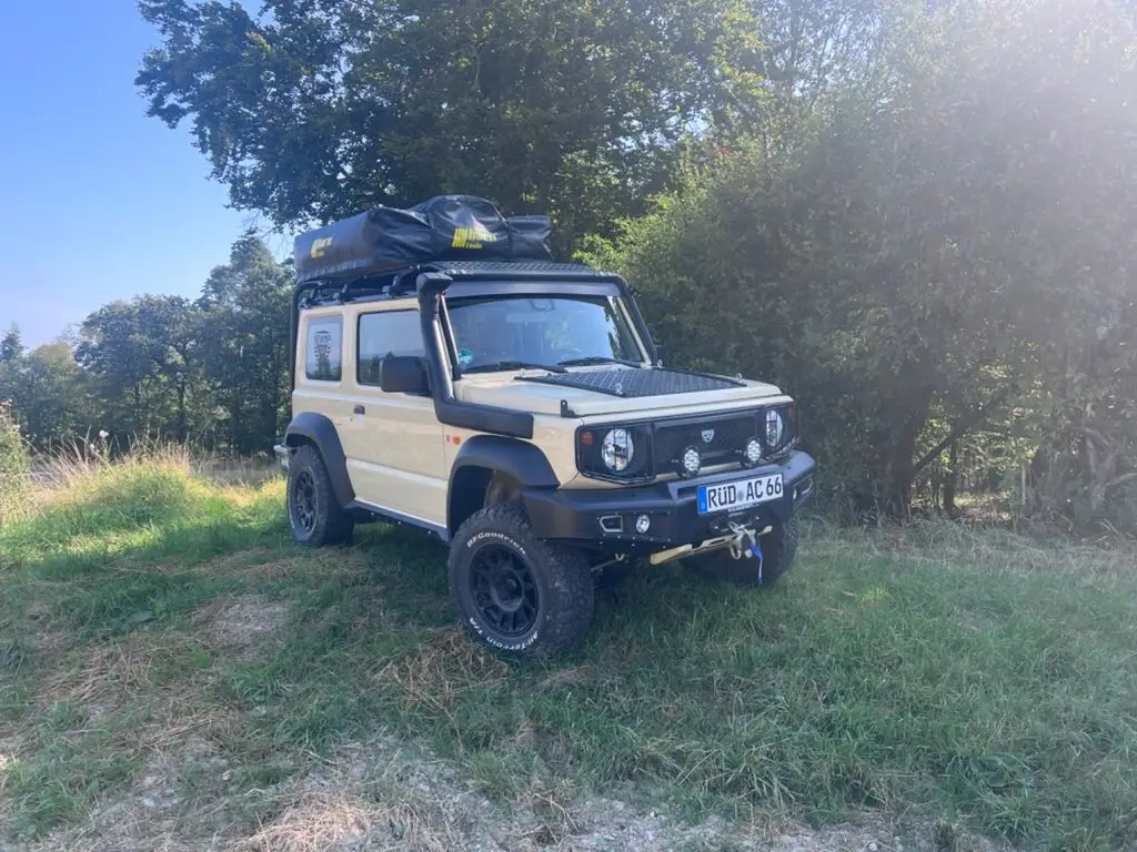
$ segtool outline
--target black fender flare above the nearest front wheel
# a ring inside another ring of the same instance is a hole
[[[496,478],[511,490],[556,488],[561,485],[540,448],[528,441],[500,435],[475,435],[467,440],[450,468],[447,488],[447,528],[453,536],[463,521],[484,506]]]

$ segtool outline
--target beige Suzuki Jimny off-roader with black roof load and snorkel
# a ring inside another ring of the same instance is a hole
[[[298,237],[277,446],[298,544],[422,527],[471,634],[528,657],[579,643],[634,560],[770,584],[814,471],[789,396],[663,367],[624,279],[551,262],[548,232],[449,195]]]

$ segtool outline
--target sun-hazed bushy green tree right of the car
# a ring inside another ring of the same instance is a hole
[[[872,86],[694,175],[605,260],[672,357],[795,391],[855,507],[906,513],[998,418],[1040,503],[1099,515],[1137,479],[1137,40],[1090,0],[920,23]]]

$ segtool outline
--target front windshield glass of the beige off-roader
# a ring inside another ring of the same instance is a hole
[[[458,365],[642,361],[617,300],[605,295],[448,299]]]

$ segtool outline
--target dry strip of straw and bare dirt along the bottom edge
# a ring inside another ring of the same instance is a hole
[[[828,830],[732,824],[714,817],[687,824],[664,811],[616,799],[567,804],[554,791],[531,791],[508,811],[491,803],[453,765],[391,737],[346,745],[331,759],[274,787],[194,801],[179,779],[192,763],[213,778],[229,766],[208,738],[188,736],[127,791],[102,800],[84,825],[30,846],[123,852],[163,849],[241,852],[997,852],[1005,847],[954,827],[898,827],[882,818]],[[242,799],[260,797],[255,816]],[[0,846],[2,847],[2,846]]]

